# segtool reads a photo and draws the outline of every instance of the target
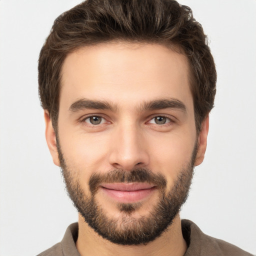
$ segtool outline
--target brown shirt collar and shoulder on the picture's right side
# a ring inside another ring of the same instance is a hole
[[[188,245],[185,256],[253,256],[229,242],[204,234],[190,220],[182,219],[181,226],[183,237]]]

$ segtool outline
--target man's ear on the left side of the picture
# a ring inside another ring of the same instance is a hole
[[[58,150],[56,144],[56,134],[52,127],[52,123],[50,120],[50,116],[47,110],[44,110],[44,121],[45,121],[45,137],[48,148],[50,150],[50,154],[52,156],[52,160],[54,164],[60,166],[58,159]]]

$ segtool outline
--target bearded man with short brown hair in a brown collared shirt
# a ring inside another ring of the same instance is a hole
[[[79,212],[39,255],[249,255],[179,217],[216,83],[188,7],[87,0],[55,20],[38,71],[46,141]]]

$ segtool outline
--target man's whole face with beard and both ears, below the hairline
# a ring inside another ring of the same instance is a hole
[[[78,211],[112,242],[153,240],[187,196],[208,130],[196,136],[188,74],[185,56],[158,44],[98,44],[63,63],[47,143]]]

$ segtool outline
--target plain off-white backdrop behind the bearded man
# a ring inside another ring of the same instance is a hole
[[[78,0],[0,0],[0,256],[35,255],[77,213],[44,139],[37,58]],[[217,95],[208,147],[181,217],[256,253],[256,0],[181,0],[209,36]]]

